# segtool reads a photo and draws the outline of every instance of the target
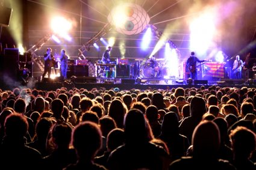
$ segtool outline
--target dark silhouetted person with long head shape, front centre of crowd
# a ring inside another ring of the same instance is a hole
[[[112,151],[109,169],[166,169],[168,154],[163,147],[152,144],[151,128],[143,113],[131,109],[125,115],[125,144]]]

